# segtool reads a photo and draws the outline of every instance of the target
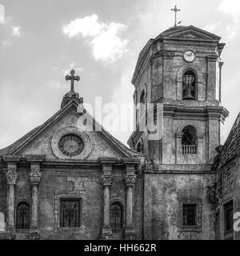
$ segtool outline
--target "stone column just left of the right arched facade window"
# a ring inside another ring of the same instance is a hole
[[[102,238],[109,238],[112,235],[110,228],[110,186],[113,177],[111,175],[102,175],[103,186],[103,226]]]

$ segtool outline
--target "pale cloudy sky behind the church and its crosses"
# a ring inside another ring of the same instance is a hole
[[[224,135],[240,110],[239,0],[0,0],[0,148],[45,122],[70,90],[85,102],[132,102],[130,80],[150,38],[178,20],[222,37],[223,104],[230,111]],[[5,14],[4,14],[5,13]],[[106,127],[107,128],[107,127]],[[112,132],[126,143],[130,132]]]

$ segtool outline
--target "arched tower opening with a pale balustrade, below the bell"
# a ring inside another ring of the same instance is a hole
[[[198,135],[194,126],[186,126],[182,130],[182,154],[197,154]]]

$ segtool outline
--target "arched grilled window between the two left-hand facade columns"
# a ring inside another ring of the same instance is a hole
[[[16,229],[28,230],[30,228],[30,205],[19,202],[16,211]]]

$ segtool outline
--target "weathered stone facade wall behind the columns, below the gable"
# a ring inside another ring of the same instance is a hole
[[[30,170],[18,168],[15,186],[15,209],[18,202],[26,201],[31,206]],[[38,222],[41,239],[99,239],[102,230],[103,189],[100,167],[50,168],[41,167],[39,185]],[[110,186],[110,202],[121,202],[126,211],[126,186],[124,167],[113,170]],[[0,212],[6,213],[6,179],[0,174]],[[82,198],[82,226],[79,229],[59,228],[59,199]],[[134,186],[134,227],[137,238],[142,238],[142,177],[138,176]],[[124,238],[124,229],[115,238]],[[17,239],[26,239],[27,232],[17,232]]]

